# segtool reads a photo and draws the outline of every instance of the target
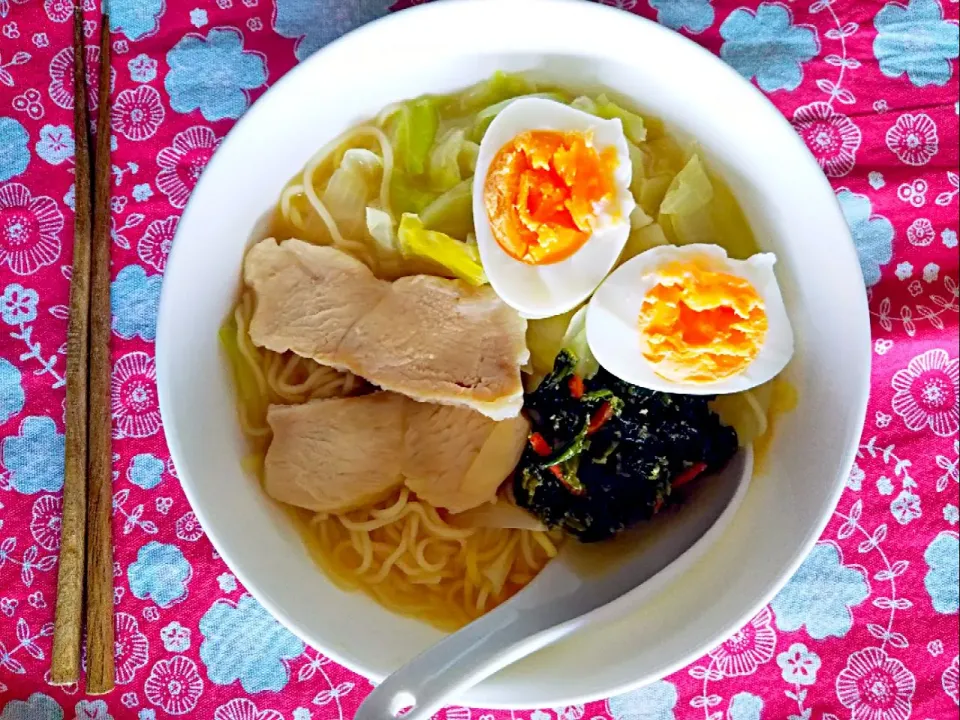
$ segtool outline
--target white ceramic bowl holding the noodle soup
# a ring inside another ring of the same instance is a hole
[[[726,532],[679,577],[461,698],[551,706],[624,692],[681,668],[758,611],[823,530],[866,408],[869,325],[834,194],[777,110],[679,35],[580,0],[459,0],[390,16],[316,53],[237,123],[203,173],[167,264],[157,376],[184,490],[237,577],[290,630],[382,678],[440,634],[336,589],[241,469],[244,443],[217,330],[244,246],[288,178],[335,135],[387,104],[457,90],[497,69],[599,85],[702,144],[741,200],[778,274],[797,338],[799,406],[776,428],[767,471]],[[651,596],[652,595],[652,596]]]

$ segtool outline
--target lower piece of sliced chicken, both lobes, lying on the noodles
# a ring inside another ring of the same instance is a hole
[[[523,417],[497,422],[390,392],[274,405],[267,421],[267,494],[330,513],[377,502],[404,482],[451,512],[490,502],[529,430]]]

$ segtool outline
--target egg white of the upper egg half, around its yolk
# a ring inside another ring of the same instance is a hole
[[[528,265],[510,257],[493,236],[483,202],[484,184],[494,157],[513,138],[529,130],[593,131],[597,150],[612,147],[618,160],[614,172],[616,197],[610,208],[598,213],[598,228],[573,255],[547,265]],[[586,300],[613,268],[630,234],[630,213],[636,205],[630,193],[632,175],[620,120],[603,120],[542,98],[519,98],[505,107],[490,123],[480,144],[473,182],[480,260],[503,301],[524,317],[535,319],[565,313]]]

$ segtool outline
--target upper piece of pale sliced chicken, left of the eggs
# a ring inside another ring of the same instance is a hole
[[[526,320],[489,287],[428,275],[389,283],[339,250],[264,240],[247,254],[253,342],[349,370],[416,400],[493,419],[523,405]]]

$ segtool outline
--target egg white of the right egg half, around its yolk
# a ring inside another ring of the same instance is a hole
[[[707,383],[678,382],[657,375],[643,356],[639,317],[643,299],[658,282],[659,268],[690,262],[750,282],[763,299],[767,334],[757,357],[737,375]],[[622,380],[659,392],[723,395],[762,385],[776,377],[793,355],[793,329],[773,273],[776,256],[761,253],[733,260],[718,245],[664,245],[621,265],[597,289],[587,309],[587,343],[597,361]]]

